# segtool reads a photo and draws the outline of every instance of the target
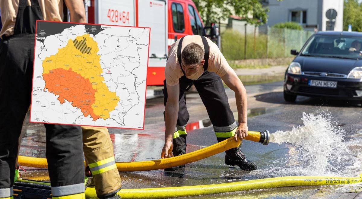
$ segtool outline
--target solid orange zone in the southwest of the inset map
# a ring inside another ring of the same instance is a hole
[[[45,80],[45,89],[48,89],[50,93],[59,95],[58,100],[61,104],[65,102],[64,100],[73,102],[72,106],[80,108],[84,117],[90,115],[94,121],[100,118],[99,115],[94,114],[92,109],[96,90],[92,88],[89,79],[73,72],[72,68],[68,70],[63,68],[52,69],[49,73],[43,73],[43,79]]]

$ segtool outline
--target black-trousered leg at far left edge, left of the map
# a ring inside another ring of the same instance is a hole
[[[31,43],[26,39],[24,41],[14,37],[0,41],[0,198],[2,199],[13,198],[19,136],[30,105],[33,62],[28,56],[19,56],[31,54],[29,51]]]

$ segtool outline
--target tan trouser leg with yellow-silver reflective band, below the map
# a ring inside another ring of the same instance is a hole
[[[115,165],[108,129],[82,126],[82,130],[84,156],[92,172],[98,198],[117,194],[121,190],[121,177]]]

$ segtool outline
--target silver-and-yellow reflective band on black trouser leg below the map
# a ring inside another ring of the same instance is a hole
[[[59,186],[59,187],[51,187],[51,194],[53,195],[53,198],[60,198],[65,199],[63,197],[71,196],[74,198],[81,198],[79,194],[84,195],[84,183],[79,183],[75,185],[65,185],[65,186]],[[75,199],[77,199],[75,198]]]

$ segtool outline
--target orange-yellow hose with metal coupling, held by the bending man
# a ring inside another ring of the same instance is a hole
[[[261,132],[248,131],[248,136],[245,137],[244,139],[268,145],[269,138],[270,138],[269,131],[261,131]],[[233,137],[230,137],[222,142],[216,143],[206,148],[199,149],[194,152],[186,153],[181,156],[170,157],[160,160],[150,160],[150,161],[116,162],[116,165],[119,172],[135,172],[135,171],[165,169],[202,160],[204,158],[213,156],[228,149],[238,147],[239,145],[240,145],[240,140],[235,141]],[[36,168],[48,167],[46,158],[19,156],[18,163],[21,166],[29,166]]]

